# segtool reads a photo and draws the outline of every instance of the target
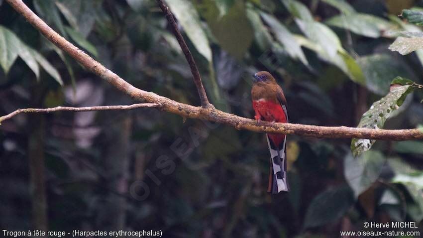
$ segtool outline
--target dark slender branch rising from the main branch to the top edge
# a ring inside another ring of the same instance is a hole
[[[181,32],[178,29],[178,25],[175,22],[175,17],[173,16],[172,12],[170,11],[169,7],[163,2],[163,0],[157,0],[159,3],[160,8],[166,14],[166,18],[169,21],[170,26],[172,27],[173,33],[176,36],[176,39],[181,46],[182,52],[185,54],[185,58],[190,65],[191,73],[193,74],[194,83],[196,84],[198,94],[201,100],[202,107],[209,107],[211,104],[209,103],[209,99],[207,98],[206,90],[204,90],[203,83],[201,82],[200,72],[198,71],[197,64],[191,54],[190,49],[185,43],[184,37],[182,36]]]

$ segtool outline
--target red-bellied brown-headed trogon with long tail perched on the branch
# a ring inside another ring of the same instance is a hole
[[[271,123],[288,123],[287,101],[276,79],[267,71],[260,71],[253,77],[251,100],[257,123],[261,124],[262,120]],[[267,133],[266,138],[270,150],[270,174],[267,192],[271,194],[289,192],[286,135]]]

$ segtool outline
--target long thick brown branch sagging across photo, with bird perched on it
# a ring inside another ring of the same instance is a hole
[[[135,88],[115,73],[108,70],[102,64],[91,58],[84,51],[75,47],[72,43],[56,33],[34,12],[31,11],[22,0],[5,0],[17,12],[19,12],[29,23],[38,29],[47,39],[57,47],[67,52],[77,62],[82,64],[91,72],[100,76],[118,90],[126,93],[132,98],[148,103],[160,104],[160,109],[165,112],[173,113],[184,118],[209,120],[217,123],[227,124],[236,129],[246,129],[255,132],[271,132],[283,134],[297,134],[319,138],[368,138],[368,139],[386,139],[386,140],[411,140],[423,139],[423,133],[419,129],[404,130],[385,130],[385,129],[367,129],[353,128],[345,126],[316,126],[293,123],[268,123],[262,122],[261,125],[252,119],[238,117],[228,114],[214,107],[194,107],[188,104],[179,103],[171,99],[159,96],[152,92],[147,92]]]

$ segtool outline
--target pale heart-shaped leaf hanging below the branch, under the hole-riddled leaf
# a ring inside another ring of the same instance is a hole
[[[351,153],[344,159],[344,176],[357,198],[379,178],[386,159],[379,151],[366,151],[354,158]]]

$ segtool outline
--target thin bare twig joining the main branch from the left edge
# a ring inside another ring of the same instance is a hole
[[[59,111],[71,111],[71,112],[89,112],[89,111],[108,111],[108,110],[132,110],[137,108],[156,108],[160,107],[158,103],[138,103],[132,105],[117,105],[117,106],[96,106],[96,107],[55,107],[55,108],[25,108],[18,109],[5,116],[0,117],[0,124],[3,120],[11,119],[12,117],[21,113],[52,113]]]

